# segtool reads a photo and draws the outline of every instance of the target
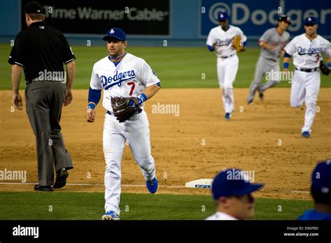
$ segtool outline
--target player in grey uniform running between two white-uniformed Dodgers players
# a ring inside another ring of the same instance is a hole
[[[279,57],[283,57],[285,52],[284,47],[290,38],[290,34],[286,31],[289,25],[289,17],[286,15],[279,16],[278,26],[276,28],[267,29],[258,40],[261,52],[258,63],[256,64],[254,79],[251,82],[251,87],[249,87],[248,104],[253,102],[256,90],[258,90],[260,99],[263,100],[263,92],[279,83],[279,79],[268,80],[265,84],[260,85],[265,73],[270,71],[279,73]],[[270,76],[272,77],[274,75]]]

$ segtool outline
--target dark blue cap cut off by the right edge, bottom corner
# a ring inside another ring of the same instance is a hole
[[[311,193],[331,196],[331,159],[316,165],[311,175]]]

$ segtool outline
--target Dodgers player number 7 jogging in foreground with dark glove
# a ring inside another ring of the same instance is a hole
[[[125,51],[128,42],[122,29],[110,29],[103,40],[107,41],[108,56],[93,66],[87,121],[94,121],[95,108],[103,89],[103,107],[107,112],[103,125],[106,167],[105,214],[102,219],[119,220],[121,161],[125,140],[128,140],[133,157],[142,170],[149,192],[155,193],[158,189],[144,102],[152,98],[161,85],[144,59]]]

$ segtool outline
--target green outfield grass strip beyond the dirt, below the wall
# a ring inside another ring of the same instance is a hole
[[[10,89],[10,65],[8,55],[10,45],[0,45],[0,89]],[[76,59],[75,89],[88,89],[93,64],[107,55],[103,46],[86,47],[73,45]],[[127,51],[142,57],[152,66],[161,80],[163,88],[200,88],[219,87],[216,75],[216,56],[206,47],[130,47]],[[248,48],[240,53],[240,65],[235,80],[235,87],[249,87],[255,71],[260,50]],[[293,65],[290,65],[293,68]],[[205,79],[202,79],[203,73]],[[331,87],[328,77],[321,75],[321,87]],[[287,82],[281,82],[277,87],[290,87]],[[20,88],[25,88],[22,75]]]

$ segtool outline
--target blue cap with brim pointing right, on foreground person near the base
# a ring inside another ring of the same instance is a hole
[[[251,184],[247,173],[231,168],[222,170],[212,182],[212,196],[218,200],[221,196],[244,196],[257,191],[264,184]]]

